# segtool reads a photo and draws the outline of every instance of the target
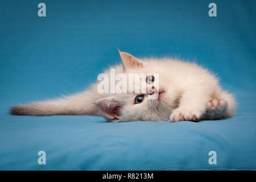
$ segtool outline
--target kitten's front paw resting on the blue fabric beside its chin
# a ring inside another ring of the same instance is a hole
[[[170,115],[170,122],[177,121],[197,121],[200,117],[200,113],[196,111],[190,111],[185,109],[175,109]]]

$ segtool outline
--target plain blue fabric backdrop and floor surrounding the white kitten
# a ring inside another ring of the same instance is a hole
[[[38,16],[44,2],[47,17]],[[208,5],[217,5],[217,17]],[[0,1],[0,169],[256,169],[256,1]],[[76,93],[116,48],[210,68],[236,95],[220,121],[107,123],[9,115],[11,105]],[[38,151],[47,164],[38,164]],[[217,165],[208,152],[217,152]]]

